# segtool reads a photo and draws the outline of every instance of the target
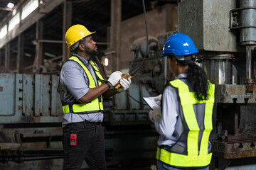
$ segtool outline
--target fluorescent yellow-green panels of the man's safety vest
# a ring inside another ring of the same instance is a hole
[[[97,82],[92,77],[92,74],[90,73],[89,69],[85,67],[84,64],[78,59],[78,57],[70,57],[69,60],[73,60],[75,62],[78,62],[80,66],[85,70],[85,74],[87,75],[89,79],[89,88],[95,88],[96,86],[100,86],[102,84],[102,81],[104,81],[102,75],[100,74],[99,69],[95,65],[95,62],[91,62],[92,68],[95,70],[95,74],[97,77]],[[91,101],[88,101],[87,103],[76,103],[76,104],[66,104],[63,106],[63,113],[77,113],[77,114],[86,114],[86,113],[97,113],[99,111],[103,111],[103,101],[102,96],[99,96],[95,99],[92,99]]]

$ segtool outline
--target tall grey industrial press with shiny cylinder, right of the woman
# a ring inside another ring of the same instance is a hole
[[[256,1],[179,1],[178,32],[216,84],[212,169],[256,169]]]

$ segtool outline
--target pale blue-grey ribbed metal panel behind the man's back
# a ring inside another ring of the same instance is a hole
[[[0,74],[0,87],[0,123],[62,121],[56,75]]]

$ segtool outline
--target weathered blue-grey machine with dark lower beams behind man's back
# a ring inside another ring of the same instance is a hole
[[[57,75],[0,74],[0,84],[1,169],[60,169],[55,166],[63,155]],[[38,161],[46,159],[47,164]]]

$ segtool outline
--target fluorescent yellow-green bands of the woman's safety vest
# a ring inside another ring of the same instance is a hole
[[[194,97],[194,93],[190,92],[188,86],[181,81],[176,79],[169,82],[172,86],[178,89],[178,96],[181,100],[181,107],[183,110],[183,115],[188,125],[188,137],[187,137],[187,155],[177,154],[169,152],[165,149],[157,148],[156,159],[169,164],[171,166],[180,167],[200,167],[208,166],[210,164],[210,159],[212,153],[208,154],[208,140],[210,136],[210,131],[213,130],[212,125],[212,115],[213,115],[213,104],[214,104],[214,93],[215,85],[210,84],[209,81],[209,98],[205,101],[198,101]],[[200,149],[198,149],[198,135],[199,127],[196,120],[196,115],[193,110],[193,104],[206,103],[205,115],[204,115],[204,130],[201,137]],[[199,150],[199,154],[198,154]]]

